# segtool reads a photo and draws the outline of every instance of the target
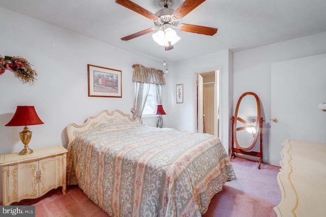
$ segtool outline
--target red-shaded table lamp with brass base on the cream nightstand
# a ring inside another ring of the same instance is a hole
[[[33,153],[33,150],[29,148],[32,131],[30,131],[27,126],[41,125],[42,123],[43,122],[37,115],[34,106],[17,106],[14,116],[5,126],[25,126],[23,131],[19,133],[20,140],[24,144],[24,148],[19,152],[19,155]]]

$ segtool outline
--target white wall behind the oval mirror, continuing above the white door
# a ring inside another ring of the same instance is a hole
[[[258,47],[233,54],[233,109],[239,97],[247,91],[255,92],[261,101],[263,122],[263,160],[271,162],[270,140],[270,76],[271,64],[326,53],[326,33]],[[298,76],[300,76],[298,74]],[[325,96],[326,97],[326,96]],[[234,113],[234,110],[233,110]],[[308,114],[309,112],[307,112]],[[285,138],[286,139],[286,138]]]

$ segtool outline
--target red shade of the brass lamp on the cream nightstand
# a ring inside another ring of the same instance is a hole
[[[37,115],[34,106],[17,106],[16,112],[5,126],[41,125],[43,121]]]

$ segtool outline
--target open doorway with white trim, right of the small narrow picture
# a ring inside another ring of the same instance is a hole
[[[220,135],[219,70],[197,73],[197,132]]]

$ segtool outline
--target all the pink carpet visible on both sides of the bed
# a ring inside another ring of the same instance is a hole
[[[277,183],[279,167],[241,158],[232,159],[237,180],[229,181],[216,194],[203,217],[276,216],[273,207],[281,201]],[[12,205],[35,205],[37,217],[101,217],[108,216],[88,199],[77,186],[68,186],[65,195],[61,188],[34,200],[22,200]]]

